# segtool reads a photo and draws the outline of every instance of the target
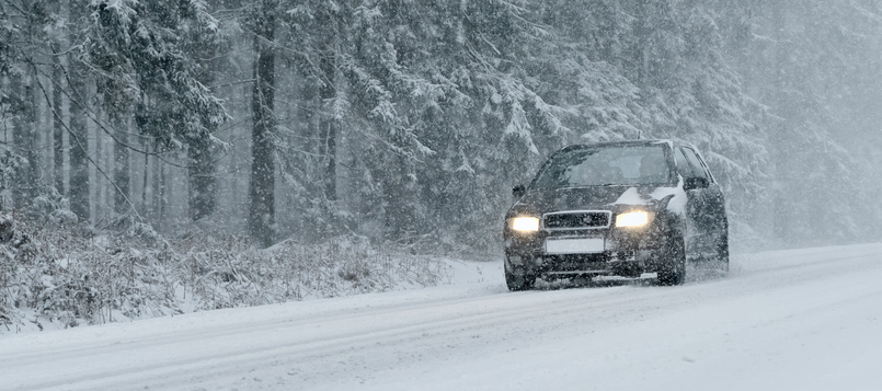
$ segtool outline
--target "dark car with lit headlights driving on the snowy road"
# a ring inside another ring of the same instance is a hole
[[[687,258],[729,269],[720,186],[698,150],[673,140],[579,145],[551,156],[505,216],[505,281],[657,273],[686,278]]]

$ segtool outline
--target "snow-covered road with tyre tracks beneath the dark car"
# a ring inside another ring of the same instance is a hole
[[[0,338],[1,390],[882,390],[882,244],[723,279],[483,283]]]

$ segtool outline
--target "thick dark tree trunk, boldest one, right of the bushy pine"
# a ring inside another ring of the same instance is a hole
[[[255,15],[255,47],[257,61],[254,65],[254,88],[251,110],[253,128],[251,133],[251,205],[249,208],[249,232],[268,246],[274,241],[275,226],[275,162],[273,161],[273,133],[275,118],[275,34],[276,0],[263,0],[262,9]]]

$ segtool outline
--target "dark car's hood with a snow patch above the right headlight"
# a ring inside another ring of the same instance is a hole
[[[612,210],[641,207],[654,210],[666,197],[667,209],[680,211],[686,195],[681,186],[584,186],[531,191],[509,215],[541,215],[561,210]]]

